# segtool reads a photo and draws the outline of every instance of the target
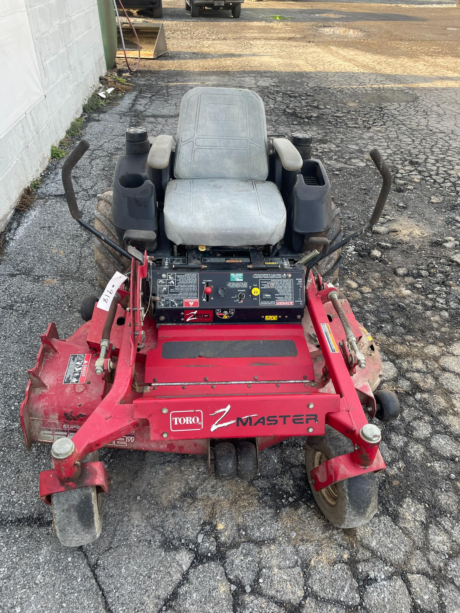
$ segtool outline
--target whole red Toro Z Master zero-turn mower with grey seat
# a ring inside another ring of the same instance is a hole
[[[55,324],[41,335],[21,405],[26,445],[52,443],[40,497],[59,541],[101,533],[101,447],[201,454],[218,478],[251,479],[261,451],[305,436],[323,514],[341,528],[367,522],[385,468],[368,418],[396,419],[399,403],[375,392],[378,349],[334,280],[340,248],[383,210],[391,175],[380,153],[370,152],[383,178],[374,212],[342,238],[311,137],[267,137],[263,102],[247,89],[188,91],[175,148],[129,128],[96,228],[71,180],[88,147],[62,175],[72,217],[101,241],[104,289],[83,299],[71,337]]]

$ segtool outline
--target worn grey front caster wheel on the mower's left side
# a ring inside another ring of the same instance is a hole
[[[64,547],[81,547],[96,541],[102,530],[102,493],[80,487],[51,497],[53,528]]]

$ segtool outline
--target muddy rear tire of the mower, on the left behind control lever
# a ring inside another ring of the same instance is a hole
[[[118,245],[117,231],[112,223],[112,188],[105,189],[102,194],[98,194],[98,204],[94,213],[94,227]],[[94,264],[96,264],[98,286],[101,289],[105,289],[117,270],[126,272],[129,268],[126,258],[109,245],[102,243],[99,238],[94,238]]]

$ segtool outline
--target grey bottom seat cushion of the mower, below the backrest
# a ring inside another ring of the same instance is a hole
[[[275,245],[286,209],[275,183],[236,179],[169,181],[164,228],[176,245]]]

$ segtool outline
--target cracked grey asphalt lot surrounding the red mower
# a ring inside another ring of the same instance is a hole
[[[372,147],[394,174],[381,223],[343,250],[340,272],[402,405],[382,425],[378,512],[362,528],[331,527],[297,438],[264,451],[250,484],[209,478],[202,457],[104,449],[102,536],[59,546],[38,498],[49,447],[25,449],[19,406],[39,334],[49,321],[71,334],[97,290],[92,238],[69,216],[53,162],[34,207],[7,227],[0,264],[0,611],[458,613],[460,11],[247,1],[240,20],[191,20],[167,0],[163,23],[169,53],[86,120],[91,149],[74,172],[86,219],[125,128],[175,134],[181,97],[204,83],[257,91],[269,132],[312,132],[345,230],[378,194]]]

